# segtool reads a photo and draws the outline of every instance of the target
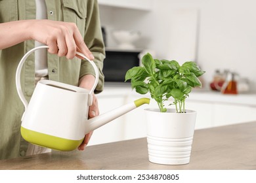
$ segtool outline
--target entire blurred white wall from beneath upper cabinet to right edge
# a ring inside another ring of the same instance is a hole
[[[113,29],[139,30],[143,37],[137,46],[155,50],[158,58],[198,61],[206,71],[205,86],[215,69],[233,69],[249,78],[256,90],[256,1],[153,2],[150,12],[100,7],[108,46],[116,45],[110,36]]]

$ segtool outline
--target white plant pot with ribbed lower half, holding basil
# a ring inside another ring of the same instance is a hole
[[[160,112],[158,108],[145,111],[149,161],[164,165],[189,163],[196,111],[176,113],[171,108],[167,112]]]

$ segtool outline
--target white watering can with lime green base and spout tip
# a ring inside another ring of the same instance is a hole
[[[75,150],[83,142],[85,134],[150,102],[148,98],[141,98],[88,120],[89,107],[93,103],[93,91],[98,83],[98,69],[93,61],[77,52],[77,55],[93,65],[96,78],[93,88],[86,90],[53,80],[39,80],[28,103],[22,93],[20,73],[28,56],[40,48],[49,47],[39,46],[27,52],[16,70],[16,89],[25,107],[21,135],[32,144],[54,150]]]

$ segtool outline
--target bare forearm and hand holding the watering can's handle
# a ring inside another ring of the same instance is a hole
[[[72,59],[78,50],[89,59],[94,59],[74,23],[19,20],[0,24],[1,50],[30,39],[49,46],[48,52],[51,54]]]

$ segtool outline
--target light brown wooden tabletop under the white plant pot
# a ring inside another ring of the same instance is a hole
[[[104,135],[102,135],[104,138]],[[190,163],[148,161],[146,138],[0,161],[0,169],[256,169],[256,122],[196,130]]]

